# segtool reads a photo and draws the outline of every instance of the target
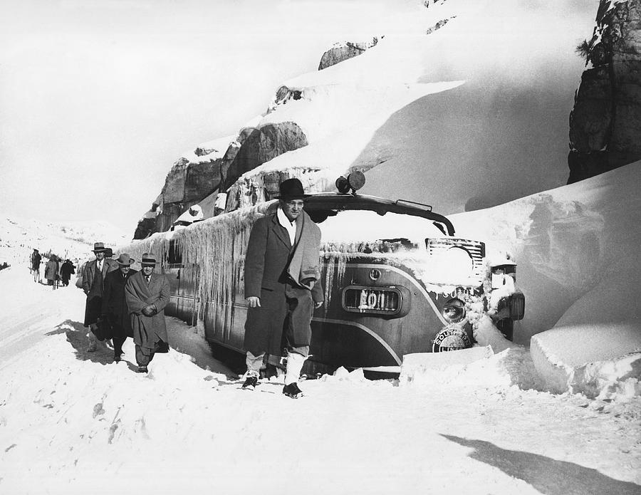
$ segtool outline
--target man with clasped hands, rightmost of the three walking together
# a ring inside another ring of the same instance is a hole
[[[155,353],[168,353],[165,306],[170,299],[170,284],[163,273],[155,273],[156,259],[145,253],[142,270],[125,285],[125,299],[136,344],[138,372],[147,372]]]

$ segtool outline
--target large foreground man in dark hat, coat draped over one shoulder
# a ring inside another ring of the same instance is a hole
[[[311,318],[323,305],[320,284],[320,229],[303,211],[303,184],[287,179],[280,184],[278,209],[258,219],[251,229],[245,257],[246,379],[253,390],[266,353],[287,350],[283,394],[298,397],[298,378],[308,357]]]

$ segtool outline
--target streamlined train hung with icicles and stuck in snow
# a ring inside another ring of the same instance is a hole
[[[303,372],[398,372],[403,355],[471,347],[484,316],[511,340],[525,306],[515,264],[491,266],[485,244],[454,236],[452,222],[432,207],[356,194],[364,180],[354,172],[336,181],[338,192],[305,201],[323,236],[325,303],[313,314]],[[249,231],[277,206],[263,202],[132,246],[164,260],[172,291],[165,313],[199,321],[209,343],[244,353]]]

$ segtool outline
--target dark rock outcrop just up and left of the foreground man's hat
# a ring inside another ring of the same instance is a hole
[[[295,122],[266,124],[244,129],[239,136],[242,145],[224,172],[220,189],[226,190],[242,174],[288,151],[308,145],[307,137]]]

